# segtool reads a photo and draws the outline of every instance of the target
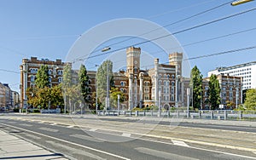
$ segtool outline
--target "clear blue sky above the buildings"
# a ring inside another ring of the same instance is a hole
[[[163,29],[172,34],[175,33],[172,37],[177,40],[179,45],[177,47],[182,47],[188,58],[256,46],[256,10],[230,19],[218,20],[231,14],[254,9],[256,1],[239,6],[231,6],[229,2],[227,0],[0,0],[0,83],[9,83],[11,89],[19,91],[19,72],[23,58],[30,59],[31,56],[36,56],[38,59],[65,61],[67,54],[79,38],[84,36],[85,41],[93,43],[92,39],[86,39],[86,32],[109,20],[130,18],[147,20],[158,26],[167,26]],[[212,9],[224,3],[228,4]],[[212,10],[184,20],[207,9]],[[178,20],[183,21],[170,25]],[[186,30],[212,20],[218,21]],[[145,27],[142,34],[147,32],[147,29]],[[234,34],[240,31],[244,32]],[[164,35],[155,34],[155,37],[160,36]],[[131,36],[113,37],[104,43],[96,43],[94,54],[101,54],[96,50],[113,43],[117,44],[111,46],[112,50],[120,49],[119,53],[125,54],[125,48],[145,41],[141,37],[127,40],[129,38]],[[207,40],[210,38],[215,39]],[[194,44],[188,45],[191,43]],[[162,56],[166,53],[159,52],[160,48],[155,46],[154,41],[136,45],[136,47],[140,47],[154,57],[159,57],[162,63],[168,61],[166,56]],[[170,44],[172,51],[175,49],[179,51],[177,47]],[[153,55],[153,53],[156,54]],[[104,56],[108,54],[82,63],[85,63],[87,68],[95,70],[93,66],[99,65],[106,58]],[[198,66],[206,77],[207,71],[219,66],[234,66],[256,61],[256,49],[187,61],[191,67]]]

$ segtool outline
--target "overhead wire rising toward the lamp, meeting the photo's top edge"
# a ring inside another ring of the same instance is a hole
[[[205,10],[205,11],[202,11],[202,12],[200,12],[200,13],[198,13],[198,14],[193,14],[193,15],[191,15],[191,16],[189,16],[189,17],[187,17],[187,18],[184,18],[184,19],[182,19],[182,20],[177,20],[177,21],[175,21],[175,22],[172,22],[171,24],[168,24],[168,25],[166,25],[166,26],[160,26],[160,27],[158,27],[158,28],[155,28],[154,30],[144,32],[143,34],[141,34],[141,35],[139,35],[139,36],[147,35],[148,33],[151,33],[151,32],[154,32],[154,31],[158,31],[158,30],[160,30],[160,29],[162,29],[162,28],[166,28],[167,26],[176,25],[177,23],[183,22],[183,21],[185,21],[185,20],[192,19],[192,18],[194,18],[194,17],[196,17],[196,16],[199,16],[199,15],[201,15],[201,14],[206,14],[207,12],[210,12],[210,11],[212,11],[212,10],[214,10],[214,9],[221,8],[221,7],[223,7],[224,5],[230,4],[230,3],[232,3],[232,2],[233,2],[233,1],[230,1],[230,2],[228,2],[228,3],[220,4],[220,5],[218,5],[218,6],[215,6],[215,7],[211,8],[211,9],[207,9],[207,10]],[[131,39],[134,39],[134,38],[136,38],[136,37],[130,37],[130,38],[127,38],[127,39],[125,39],[125,40],[119,41],[119,42],[117,42],[117,43],[112,43],[112,44],[108,45],[108,47],[111,47],[111,46],[116,45],[116,44],[119,44],[119,43],[125,43],[126,41],[130,41]],[[96,53],[96,52],[101,51],[101,50],[102,50],[102,49],[96,49],[96,50],[92,51],[90,54]],[[84,57],[84,56],[79,57],[78,60],[80,60],[80,59],[83,58],[83,57]]]

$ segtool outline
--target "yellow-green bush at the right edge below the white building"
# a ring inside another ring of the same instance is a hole
[[[256,111],[256,89],[248,89],[244,105],[247,111]]]

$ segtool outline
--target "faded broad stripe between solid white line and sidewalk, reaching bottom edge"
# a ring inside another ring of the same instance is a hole
[[[88,151],[83,151],[83,150],[75,149],[75,148],[67,146],[67,145],[61,145],[61,144],[55,143],[54,141],[51,141],[51,140],[47,140],[46,142],[51,144],[51,145],[53,145],[53,146],[65,148],[65,150],[72,151],[72,153],[74,153],[74,154],[81,154],[81,155],[84,156],[84,158],[85,157],[90,157],[90,158],[93,158],[93,159],[105,160],[104,158],[96,156],[96,155],[94,155],[94,154],[92,154],[92,153],[90,153]]]

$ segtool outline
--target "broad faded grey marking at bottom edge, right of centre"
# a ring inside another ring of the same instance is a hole
[[[137,147],[135,150],[142,152],[143,154],[148,154],[150,156],[154,157],[161,157],[165,159],[177,159],[177,160],[199,160],[197,158],[193,157],[185,157],[181,155],[177,155],[174,153],[166,152],[166,151],[157,151],[150,148],[144,148],[144,147]]]

